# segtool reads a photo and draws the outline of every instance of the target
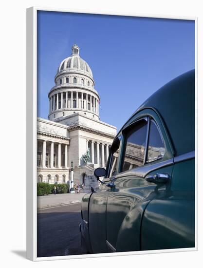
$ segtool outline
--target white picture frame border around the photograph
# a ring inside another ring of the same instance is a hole
[[[75,12],[89,13],[86,10],[78,12],[78,10],[68,10],[59,8],[41,8],[31,7],[27,9],[27,259],[32,261],[46,260],[64,260],[77,258],[92,258],[104,256],[120,256],[120,255],[135,255],[135,254],[152,254],[157,252],[179,252],[191,251],[198,249],[198,221],[197,221],[197,200],[198,200],[198,134],[197,134],[197,118],[198,118],[198,18],[196,17],[176,17],[176,16],[156,16],[149,14],[107,14],[118,16],[133,16],[147,18],[163,18],[163,19],[188,19],[195,21],[195,93],[196,93],[196,167],[195,167],[195,201],[196,201],[196,243],[195,248],[190,249],[164,249],[164,250],[149,250],[149,251],[133,251],[133,252],[118,252],[118,253],[101,253],[90,255],[71,255],[71,256],[54,256],[54,257],[37,257],[37,11],[55,11],[55,12]],[[92,14],[92,13],[90,13]],[[94,13],[96,14],[96,13]]]

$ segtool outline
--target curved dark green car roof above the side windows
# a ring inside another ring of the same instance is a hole
[[[195,70],[176,77],[157,90],[129,120],[145,108],[155,109],[161,115],[176,155],[195,150]]]

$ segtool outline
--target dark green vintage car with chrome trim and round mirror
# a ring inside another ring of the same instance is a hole
[[[195,71],[150,96],[116,135],[84,195],[84,253],[195,247]]]

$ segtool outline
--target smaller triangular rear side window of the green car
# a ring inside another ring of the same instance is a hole
[[[165,154],[164,141],[153,121],[150,122],[147,163],[161,159]]]

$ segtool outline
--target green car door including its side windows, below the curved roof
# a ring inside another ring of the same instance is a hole
[[[122,130],[116,174],[107,199],[108,252],[140,250],[145,208],[167,188],[167,183],[152,184],[148,178],[155,174],[170,178],[172,155],[164,122],[155,111],[140,112]]]

